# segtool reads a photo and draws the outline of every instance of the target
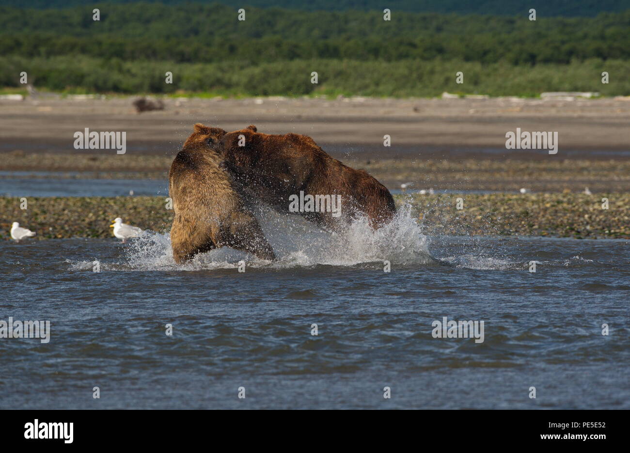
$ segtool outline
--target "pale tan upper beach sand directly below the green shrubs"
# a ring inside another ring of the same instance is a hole
[[[453,156],[462,149],[507,152],[505,134],[517,127],[558,132],[556,159],[585,153],[597,158],[593,151],[630,148],[630,98],[164,98],[164,110],[141,114],[135,113],[133,100],[0,100],[0,151],[76,152],[73,134],[87,127],[127,132],[128,152],[171,155],[196,122],[226,130],[255,123],[269,134],[311,135],[333,155],[350,148],[352,154],[381,158],[417,157],[419,152]],[[391,147],[384,149],[386,134]],[[509,154],[531,158],[536,153]]]

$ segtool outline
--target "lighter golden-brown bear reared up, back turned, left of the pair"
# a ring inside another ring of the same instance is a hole
[[[197,253],[227,246],[275,260],[255,217],[219,167],[212,149],[225,131],[195,125],[195,132],[178,152],[169,171],[169,196],[175,219],[171,227],[173,258],[177,263]]]

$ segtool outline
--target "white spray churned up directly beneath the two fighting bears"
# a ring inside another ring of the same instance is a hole
[[[299,215],[284,215],[259,207],[256,217],[272,244],[278,261],[260,260],[243,251],[223,247],[195,256],[178,265],[173,260],[169,234],[144,231],[125,247],[122,263],[103,264],[110,270],[212,270],[236,268],[245,260],[253,268],[292,268],[315,265],[354,266],[387,260],[396,265],[428,265],[436,261],[428,253],[428,238],[404,205],[390,222],[377,231],[361,217],[342,234],[329,233]],[[74,268],[91,268],[91,262],[75,263]]]

